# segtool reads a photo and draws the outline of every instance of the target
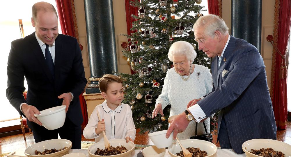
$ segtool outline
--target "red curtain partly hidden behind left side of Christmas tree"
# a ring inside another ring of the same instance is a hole
[[[138,16],[139,8],[130,5],[130,1],[134,0],[125,0],[125,16],[126,16],[126,25],[127,25],[127,35],[131,35],[131,33],[135,33],[136,30],[130,30],[132,28],[132,22],[136,21],[131,15]],[[128,39],[130,41],[130,39]],[[131,74],[134,74],[134,71],[131,70]]]

